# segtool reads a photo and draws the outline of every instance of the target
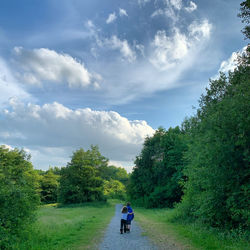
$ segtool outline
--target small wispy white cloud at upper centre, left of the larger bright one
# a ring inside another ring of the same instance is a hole
[[[117,36],[112,36],[110,39],[105,40],[105,44],[111,49],[119,50],[123,59],[133,62],[136,60],[136,53],[130,47],[127,40],[120,40]]]

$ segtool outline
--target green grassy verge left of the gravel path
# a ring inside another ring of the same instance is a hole
[[[95,249],[113,215],[113,202],[42,206],[32,233],[15,248]]]

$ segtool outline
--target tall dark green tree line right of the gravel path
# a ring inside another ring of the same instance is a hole
[[[250,37],[250,1],[239,14]],[[177,207],[177,218],[249,229],[250,46],[237,68],[210,80],[196,114],[159,128],[135,160],[128,193],[145,207]]]

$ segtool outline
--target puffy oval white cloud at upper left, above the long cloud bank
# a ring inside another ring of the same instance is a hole
[[[90,25],[90,23],[89,23]],[[25,50],[14,48],[15,59],[21,68],[22,80],[39,85],[42,81],[67,82],[69,87],[86,87],[94,80],[83,63],[68,54],[45,48]]]

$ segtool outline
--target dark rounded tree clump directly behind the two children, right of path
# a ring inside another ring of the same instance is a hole
[[[182,196],[185,135],[179,129],[159,128],[147,138],[131,174],[129,195],[146,207],[172,207]]]

